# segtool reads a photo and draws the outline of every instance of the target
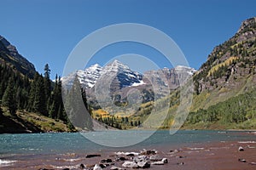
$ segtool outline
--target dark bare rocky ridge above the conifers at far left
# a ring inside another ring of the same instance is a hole
[[[0,36],[0,63],[10,65],[14,70],[30,78],[36,73],[34,65],[19,54],[17,48]]]

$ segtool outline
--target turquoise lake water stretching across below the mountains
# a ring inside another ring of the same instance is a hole
[[[127,133],[114,132],[115,140],[127,139]],[[149,131],[130,131],[131,137],[140,138]],[[91,132],[86,135],[97,136],[102,141],[107,140],[106,132]],[[124,136],[125,135],[125,136]],[[128,136],[129,138],[129,136]],[[158,131],[142,143],[121,148],[154,149],[158,147],[182,147],[218,141],[253,141],[256,136],[245,132],[218,132],[218,131],[186,131],[181,130],[170,135],[169,131]],[[106,141],[108,142],[108,141]],[[32,133],[32,134],[0,134],[0,156],[12,154],[59,154],[67,152],[86,153],[98,150],[121,150],[95,144],[85,139],[80,133]]]

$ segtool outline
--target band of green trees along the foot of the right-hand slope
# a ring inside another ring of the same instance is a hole
[[[240,94],[227,99],[207,110],[200,109],[191,112],[187,121],[191,124],[197,122],[240,123],[256,119],[256,91]]]

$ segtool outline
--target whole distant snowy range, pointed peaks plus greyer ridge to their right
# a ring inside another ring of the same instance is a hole
[[[148,84],[148,80],[154,84],[167,84],[170,88],[177,88],[180,82],[186,80],[186,77],[192,76],[195,69],[188,66],[177,65],[174,69],[163,68],[159,71],[147,71],[144,75],[137,71],[131,71],[129,66],[122,64],[119,60],[113,60],[108,65],[91,65],[84,71],[79,70],[63,77],[62,82],[67,88],[71,88],[74,77],[77,75],[82,87],[93,88],[96,83],[106,83],[106,78],[114,77],[112,80],[112,89],[119,90],[125,87],[136,87]],[[167,81],[167,82],[166,82]]]

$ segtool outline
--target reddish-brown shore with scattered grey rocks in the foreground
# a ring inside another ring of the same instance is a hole
[[[84,169],[84,170],[178,170],[255,169],[256,141],[194,144],[156,150],[100,150],[98,153],[67,153],[32,156],[13,161],[1,169]]]

